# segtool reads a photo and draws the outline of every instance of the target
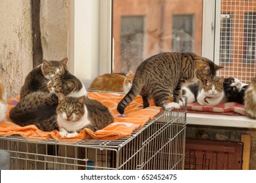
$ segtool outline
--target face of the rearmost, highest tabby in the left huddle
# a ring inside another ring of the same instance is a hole
[[[42,72],[43,75],[50,79],[54,75],[63,75],[65,73],[65,68],[67,68],[67,58],[61,61],[46,61],[43,59]]]

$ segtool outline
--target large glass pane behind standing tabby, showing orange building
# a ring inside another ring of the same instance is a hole
[[[113,0],[113,73],[161,52],[202,50],[203,0]]]

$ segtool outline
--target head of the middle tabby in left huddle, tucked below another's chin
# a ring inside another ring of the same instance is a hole
[[[56,95],[58,95],[58,93],[68,95],[75,88],[73,80],[65,80],[60,75],[54,75],[52,78],[50,78],[47,86],[48,90]]]

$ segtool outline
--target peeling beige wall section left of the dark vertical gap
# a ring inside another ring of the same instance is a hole
[[[31,1],[0,2],[0,69],[13,97],[32,68]]]

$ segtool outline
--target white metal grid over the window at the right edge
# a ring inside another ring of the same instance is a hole
[[[256,1],[221,0],[220,75],[249,84],[256,72]]]

